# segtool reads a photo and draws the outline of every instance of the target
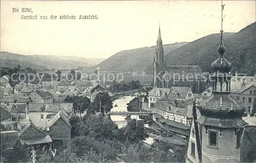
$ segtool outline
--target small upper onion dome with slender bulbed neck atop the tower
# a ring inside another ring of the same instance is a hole
[[[221,30],[221,43],[218,48],[220,58],[216,59],[215,61],[213,61],[211,63],[211,68],[214,72],[219,71],[219,72],[227,72],[228,73],[232,67],[232,64],[230,61],[228,61],[227,59],[225,59],[223,57],[223,54],[225,53],[225,46],[223,45],[222,36],[223,36],[223,31]]]

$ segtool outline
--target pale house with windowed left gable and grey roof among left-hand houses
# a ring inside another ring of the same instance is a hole
[[[53,103],[53,95],[50,92],[38,89],[29,92],[29,98],[34,103]]]

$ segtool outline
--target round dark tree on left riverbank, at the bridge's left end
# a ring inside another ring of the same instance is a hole
[[[101,103],[101,106],[100,106]],[[104,115],[104,113],[108,113],[113,108],[112,100],[108,94],[108,92],[99,92],[91,106],[91,111],[99,112]]]

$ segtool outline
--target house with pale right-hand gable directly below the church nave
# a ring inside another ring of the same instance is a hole
[[[171,88],[169,96],[177,100],[194,100],[194,95],[190,87],[175,87]]]

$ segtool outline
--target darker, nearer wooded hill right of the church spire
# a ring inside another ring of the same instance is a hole
[[[232,63],[232,73],[255,72],[256,56],[256,22],[245,27],[238,33],[224,33],[223,43],[226,47],[224,57]],[[220,34],[212,34],[190,42],[180,48],[167,53],[166,61],[169,65],[197,65],[202,71],[211,72],[210,64],[219,57],[218,46]]]

